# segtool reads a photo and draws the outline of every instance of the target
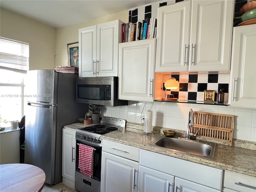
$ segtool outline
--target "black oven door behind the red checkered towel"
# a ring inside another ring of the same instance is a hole
[[[78,168],[78,161],[79,161],[79,150],[78,150],[79,147],[78,147],[78,145],[79,144],[84,144],[84,145],[87,145],[87,146],[91,146],[95,149],[94,150],[93,176],[92,176],[92,178],[100,181],[102,147],[94,145],[92,143],[88,143],[88,142],[81,142],[81,141],[76,139],[76,146],[77,146],[76,147],[76,171],[79,172],[79,173],[81,173],[80,168]]]

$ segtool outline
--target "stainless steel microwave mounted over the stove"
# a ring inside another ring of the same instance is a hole
[[[76,102],[107,106],[128,105],[127,100],[118,99],[118,77],[76,78]]]

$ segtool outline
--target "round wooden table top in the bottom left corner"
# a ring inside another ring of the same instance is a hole
[[[45,184],[44,171],[30,164],[0,165],[0,192],[37,192]]]

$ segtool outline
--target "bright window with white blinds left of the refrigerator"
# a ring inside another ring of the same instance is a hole
[[[0,37],[0,117],[20,120],[24,115],[24,76],[29,67],[29,45]],[[2,124],[1,126],[10,126]]]

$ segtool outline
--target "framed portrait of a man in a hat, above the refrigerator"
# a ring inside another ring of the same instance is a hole
[[[78,42],[68,44],[68,66],[78,67]]]

